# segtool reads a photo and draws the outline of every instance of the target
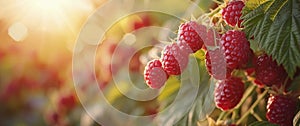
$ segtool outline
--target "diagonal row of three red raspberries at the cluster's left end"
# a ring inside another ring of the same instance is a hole
[[[152,60],[146,65],[144,79],[150,88],[161,88],[170,75],[180,75],[185,70],[189,54],[198,51],[203,46],[203,40],[196,28],[199,26],[195,21],[181,24],[177,42],[166,45],[161,59]]]

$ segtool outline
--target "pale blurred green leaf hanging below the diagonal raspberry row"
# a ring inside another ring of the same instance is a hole
[[[215,108],[214,84],[209,83],[209,77],[204,60],[190,57],[177,97],[157,115],[158,125],[194,126],[205,119]]]

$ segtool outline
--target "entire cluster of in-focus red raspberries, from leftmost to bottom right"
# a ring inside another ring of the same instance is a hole
[[[205,31],[195,21],[181,24],[178,29],[177,42],[165,46],[161,59],[150,61],[144,72],[147,85],[159,89],[170,75],[180,75],[188,65],[188,56],[202,49],[206,51],[207,72],[217,79],[214,91],[216,107],[222,111],[235,108],[245,92],[245,82],[256,84],[259,88],[271,89],[267,102],[266,118],[269,122],[281,126],[292,125],[297,109],[296,97],[286,92],[288,75],[282,65],[277,64],[271,56],[263,51],[254,52],[250,42],[241,30],[243,1],[231,1],[222,9],[222,18],[227,29],[218,31],[220,40],[211,38],[211,31]],[[223,25],[224,25],[223,24]],[[254,36],[255,37],[255,36]],[[203,41],[204,40],[204,41]],[[241,71],[245,74],[241,75]],[[250,78],[250,79],[249,79]]]

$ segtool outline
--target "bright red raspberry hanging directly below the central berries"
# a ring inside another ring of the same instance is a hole
[[[216,106],[223,111],[234,108],[242,99],[244,83],[240,78],[231,77],[220,81],[215,88]]]

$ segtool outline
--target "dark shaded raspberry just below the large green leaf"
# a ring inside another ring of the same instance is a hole
[[[267,86],[281,86],[284,83],[287,73],[283,66],[278,66],[276,61],[272,60],[272,57],[263,54],[258,56],[256,60],[256,82],[260,85]]]

